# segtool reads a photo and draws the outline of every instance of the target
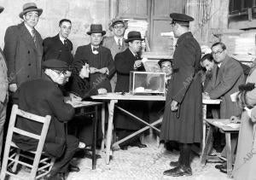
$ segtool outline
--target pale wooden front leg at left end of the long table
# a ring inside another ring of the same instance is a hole
[[[106,163],[109,164],[110,148],[112,141],[112,132],[113,132],[113,108],[114,103],[117,100],[111,100],[108,103],[108,132],[107,132],[107,142],[106,142]]]

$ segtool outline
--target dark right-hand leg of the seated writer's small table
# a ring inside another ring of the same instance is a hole
[[[96,141],[97,141],[97,120],[98,120],[98,107],[95,106],[95,117],[93,120],[93,136],[92,136],[92,169],[96,169]]]

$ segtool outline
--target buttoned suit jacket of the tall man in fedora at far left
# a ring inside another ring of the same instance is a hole
[[[9,26],[4,36],[3,54],[7,61],[9,84],[17,84],[41,77],[43,39],[35,30],[36,44],[24,23]]]

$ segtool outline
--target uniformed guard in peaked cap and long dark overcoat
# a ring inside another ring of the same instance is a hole
[[[164,175],[191,176],[191,146],[202,139],[202,87],[200,71],[201,48],[189,32],[189,15],[172,13],[172,31],[177,38],[173,55],[173,73],[166,95],[166,107],[160,140],[180,144],[180,156],[172,161],[172,169]],[[193,107],[193,108],[191,108]]]

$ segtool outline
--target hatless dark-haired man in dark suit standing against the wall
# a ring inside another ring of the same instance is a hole
[[[72,26],[71,20],[62,19],[59,26],[59,34],[44,39],[44,61],[55,58],[71,65],[73,63],[73,44],[68,39]]]

